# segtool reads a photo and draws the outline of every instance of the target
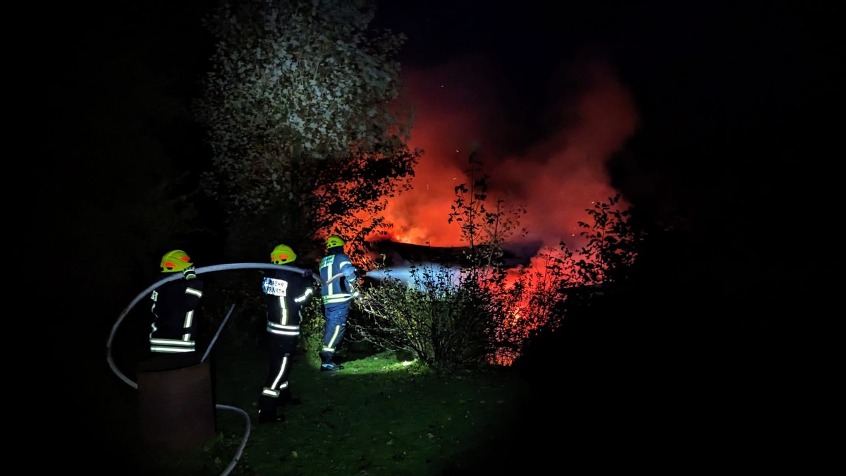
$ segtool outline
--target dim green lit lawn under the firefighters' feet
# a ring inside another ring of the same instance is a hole
[[[118,439],[129,447],[120,473],[233,475],[428,475],[470,467],[502,438],[503,423],[518,405],[523,386],[507,368],[437,374],[393,352],[347,354],[344,369],[321,373],[316,356],[294,357],[289,377],[300,405],[286,407],[285,421],[257,423],[256,402],[266,374],[264,346],[220,343],[212,366],[216,403],[240,408],[215,412],[217,431],[201,449],[156,451],[138,437],[136,408],[115,403]],[[114,378],[117,381],[117,378]],[[129,418],[128,416],[129,415]],[[234,458],[237,461],[234,462]]]

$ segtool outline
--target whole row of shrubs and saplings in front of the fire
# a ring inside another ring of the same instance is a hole
[[[587,239],[580,252],[562,242],[530,266],[509,270],[503,245],[519,230],[525,210],[506,206],[502,197],[489,208],[487,177],[471,170],[471,179],[476,176],[471,187],[455,187],[449,214],[449,223],[459,224],[462,239],[471,243],[460,269],[417,267],[412,285],[387,280],[365,292],[351,320],[354,335],[438,368],[509,365],[527,342],[559,329],[566,315],[625,280],[643,233],[629,211],[617,207],[619,196],[586,210],[591,223],[579,223]]]

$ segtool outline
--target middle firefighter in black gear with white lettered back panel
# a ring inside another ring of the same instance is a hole
[[[288,245],[276,246],[270,255],[274,264],[290,265],[296,259],[297,254]],[[281,422],[285,416],[278,408],[299,404],[299,399],[291,395],[288,375],[299,338],[300,311],[314,293],[312,283],[310,269],[302,272],[274,269],[261,281],[261,290],[266,295],[267,332],[270,335],[267,377],[259,396],[259,423]]]

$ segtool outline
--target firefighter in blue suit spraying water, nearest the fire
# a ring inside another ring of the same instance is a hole
[[[335,351],[347,329],[349,302],[359,295],[354,287],[358,283],[358,270],[343,252],[344,245],[338,235],[329,236],[326,240],[329,254],[320,263],[321,280],[327,283],[321,287],[323,313],[326,316],[323,347],[319,352],[321,372],[334,372],[343,368],[343,365],[334,362]]]

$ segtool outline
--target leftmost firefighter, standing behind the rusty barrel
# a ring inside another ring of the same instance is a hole
[[[162,273],[181,273],[182,279],[164,283],[150,296],[150,351],[154,356],[195,352],[203,281],[197,278],[194,263],[182,250],[165,253],[161,268]]]

